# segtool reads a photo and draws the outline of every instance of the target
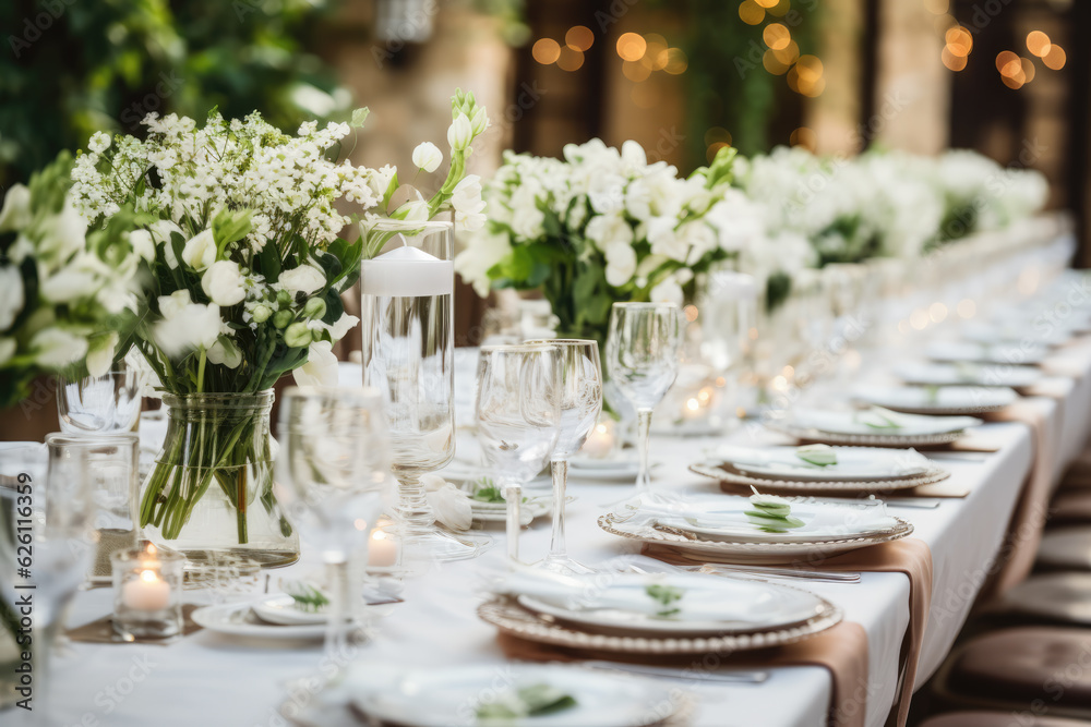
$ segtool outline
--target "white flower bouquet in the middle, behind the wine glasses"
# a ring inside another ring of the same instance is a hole
[[[541,289],[560,335],[601,341],[615,301],[681,305],[696,274],[764,237],[759,207],[731,189],[733,157],[680,179],[636,142],[570,144],[563,160],[508,153],[455,269],[482,296]]]

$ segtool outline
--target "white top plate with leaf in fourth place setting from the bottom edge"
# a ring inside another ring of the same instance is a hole
[[[819,467],[795,455],[794,447],[735,447],[724,445],[715,450],[715,456],[729,464],[751,467],[789,467],[808,472],[824,472],[830,478],[838,475],[875,473],[876,476],[897,476],[932,469],[927,457],[915,449],[858,453],[851,449],[838,449],[836,464]],[[849,461],[846,461],[849,460]]]

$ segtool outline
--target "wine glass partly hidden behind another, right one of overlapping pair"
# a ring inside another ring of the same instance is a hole
[[[565,489],[568,484],[568,458],[579,451],[595,428],[602,411],[602,367],[599,344],[580,339],[527,341],[531,346],[556,349],[561,426],[551,458],[553,474],[553,533],[549,555],[542,560],[547,570],[562,574],[590,573],[592,569],[573,560],[564,544]]]

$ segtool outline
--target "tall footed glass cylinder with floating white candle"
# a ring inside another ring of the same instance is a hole
[[[363,385],[385,402],[407,560],[471,558],[491,543],[439,530],[420,484],[455,456],[453,229],[389,219],[364,229]]]

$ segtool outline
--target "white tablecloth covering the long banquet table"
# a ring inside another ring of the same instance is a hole
[[[1091,344],[1078,342],[1064,349],[1071,373],[1058,379],[1063,396],[1045,398],[1054,436],[1048,452],[1057,477],[1091,434]],[[732,438],[744,441],[753,431],[741,428]],[[764,436],[764,435],[759,435]],[[978,436],[978,435],[975,435]],[[998,446],[993,453],[944,458],[951,482],[970,490],[966,498],[943,499],[935,509],[896,509],[910,520],[913,537],[924,541],[934,562],[934,597],[925,632],[916,684],[935,673],[961,628],[971,605],[991,572],[991,559],[1004,540],[1033,459],[1032,437],[1020,423],[986,424],[980,437]],[[688,472],[717,440],[707,437],[657,436],[652,459],[660,487],[687,492],[717,492],[711,481]],[[635,548],[600,530],[596,519],[608,504],[631,494],[624,484],[592,484],[574,476],[568,506],[568,547],[586,562],[606,559]],[[356,656],[375,666],[440,666],[494,664],[504,656],[495,629],[480,621],[475,610],[482,594],[477,572],[503,565],[503,534],[477,560],[435,567],[405,584],[405,603],[392,606],[376,625],[376,635]],[[546,553],[549,519],[541,518],[524,532],[525,559]],[[283,574],[301,572],[305,564]],[[274,581],[276,575],[274,574]],[[795,583],[800,584],[800,583]],[[899,572],[864,572],[859,583],[804,582],[804,587],[838,604],[844,617],[867,632],[868,678],[858,693],[866,695],[866,724],[883,725],[890,712],[900,670],[899,655],[909,622],[909,580]],[[188,592],[200,596],[200,592]],[[77,625],[110,610],[108,589],[81,593],[69,618]],[[55,698],[63,725],[285,725],[278,713],[310,708],[314,695],[289,691],[286,683],[313,670],[321,657],[317,644],[290,647],[253,644],[201,631],[168,646],[93,645],[74,643],[56,661]],[[730,668],[728,665],[726,668]],[[770,669],[762,684],[723,684],[695,678],[681,683],[696,699],[694,724],[822,725],[829,708],[831,681],[820,667]],[[843,705],[842,705],[843,708]],[[21,716],[21,715],[20,715]],[[9,715],[0,722],[9,724]],[[346,725],[352,724],[345,717]],[[17,720],[12,724],[17,724]],[[323,722],[322,724],[331,724]]]

